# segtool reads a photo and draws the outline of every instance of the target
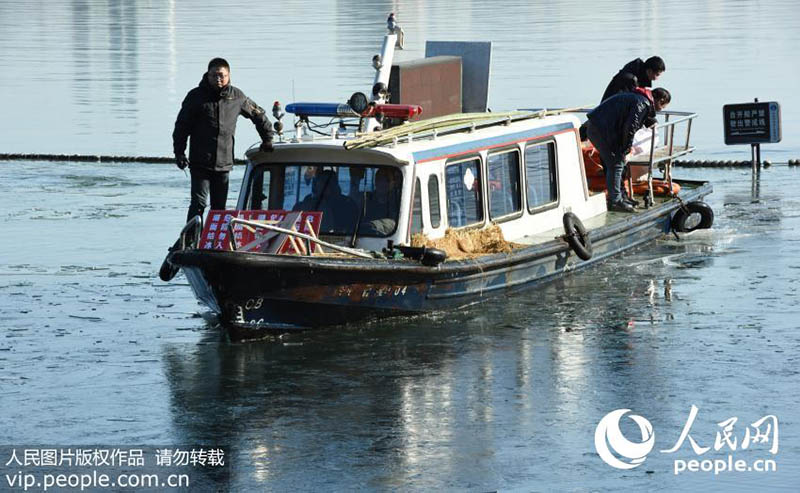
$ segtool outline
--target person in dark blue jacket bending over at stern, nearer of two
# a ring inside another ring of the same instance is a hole
[[[587,134],[603,163],[611,211],[633,212],[633,204],[622,195],[625,158],[636,131],[645,125],[651,113],[666,108],[672,99],[669,91],[661,87],[653,89],[652,99],[649,95],[646,90],[622,92],[606,99],[587,115]]]

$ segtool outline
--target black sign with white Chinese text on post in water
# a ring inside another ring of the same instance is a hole
[[[781,141],[781,106],[774,101],[726,104],[722,107],[725,144],[750,144],[753,162],[753,198],[758,198],[761,175],[761,144]]]

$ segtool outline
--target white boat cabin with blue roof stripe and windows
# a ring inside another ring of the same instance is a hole
[[[237,208],[321,211],[322,238],[365,250],[491,224],[518,241],[566,212],[606,212],[587,188],[579,125],[564,113],[349,150],[335,134],[251,149]]]

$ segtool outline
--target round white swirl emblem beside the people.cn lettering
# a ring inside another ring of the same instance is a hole
[[[617,469],[633,469],[644,462],[653,450],[656,437],[653,425],[647,419],[631,414],[628,416],[642,433],[641,442],[631,442],[622,435],[619,422],[630,409],[617,409],[603,416],[594,432],[594,448],[606,464]],[[625,460],[627,459],[627,461]]]

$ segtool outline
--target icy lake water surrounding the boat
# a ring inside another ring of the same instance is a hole
[[[3,474],[25,472],[9,447],[148,444],[225,447],[228,478],[198,468],[199,490],[797,491],[792,1],[0,1],[0,152],[169,155],[180,101],[214,56],[262,106],[345,101],[368,89],[390,11],[406,32],[399,59],[426,39],[492,41],[498,110],[595,102],[625,62],[659,54],[671,109],[701,114],[698,158],[748,159],[723,143],[722,105],[778,101],[783,141],[762,148],[776,164],[756,188],[750,170],[676,171],[714,183],[713,230],[534,292],[229,344],[181,277],[157,278],[188,205],[182,172],[0,162]],[[241,154],[257,134],[239,125]],[[688,436],[708,449],[687,438],[663,452],[693,405]],[[616,409],[652,423],[655,447],[634,469],[595,451]],[[779,438],[743,448],[768,415]],[[676,461],[728,455],[777,470],[674,474]]]

